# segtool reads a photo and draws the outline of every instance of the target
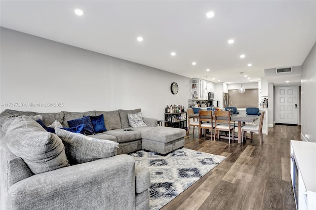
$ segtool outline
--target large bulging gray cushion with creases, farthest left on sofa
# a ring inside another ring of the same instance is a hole
[[[18,116],[6,131],[7,147],[34,174],[69,166],[62,140],[29,116]]]

